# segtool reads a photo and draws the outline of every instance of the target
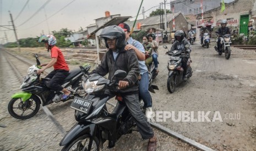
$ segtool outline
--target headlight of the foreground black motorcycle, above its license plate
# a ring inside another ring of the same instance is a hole
[[[84,83],[84,81],[82,82],[82,86],[85,90],[86,93],[90,94],[92,92],[96,92],[99,91],[101,89],[104,88],[105,84],[101,84],[101,85],[96,85],[98,82],[98,80],[95,80],[93,82],[90,82],[90,80],[86,80],[86,82]]]

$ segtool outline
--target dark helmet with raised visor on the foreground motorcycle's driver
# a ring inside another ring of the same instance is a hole
[[[119,26],[112,25],[102,29],[100,37],[105,39],[106,47],[108,48],[107,39],[116,39],[116,47],[122,48],[126,45],[126,34]]]

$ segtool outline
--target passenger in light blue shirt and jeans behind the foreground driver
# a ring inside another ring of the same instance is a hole
[[[148,57],[145,60],[145,53],[148,54],[148,51],[145,52],[143,45],[134,40],[130,37],[130,27],[126,23],[121,23],[118,25],[119,27],[123,28],[124,33],[126,34],[126,42],[128,43],[125,50],[133,49],[139,60],[139,67],[140,67],[140,78],[139,78],[139,95],[144,102],[144,108],[146,109],[146,117],[151,118],[152,115],[152,100],[149,93],[149,73],[146,64],[148,63],[149,59],[152,57]],[[142,55],[142,56],[141,56]],[[145,61],[144,61],[145,60]]]

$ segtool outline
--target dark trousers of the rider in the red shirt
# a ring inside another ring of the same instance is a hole
[[[51,79],[50,82],[47,83],[47,87],[56,92],[63,90],[61,84],[66,77],[68,77],[68,71],[63,69],[53,70],[45,77]]]

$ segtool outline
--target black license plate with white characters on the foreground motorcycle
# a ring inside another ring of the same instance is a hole
[[[80,97],[74,97],[74,100],[71,103],[70,107],[77,111],[88,114],[91,106],[92,106],[92,101],[85,100],[84,98],[80,98]]]

